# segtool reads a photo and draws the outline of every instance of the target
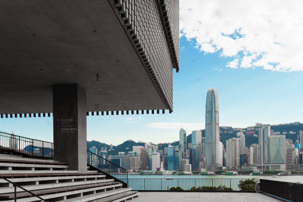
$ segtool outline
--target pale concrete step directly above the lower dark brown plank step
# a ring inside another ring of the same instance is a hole
[[[22,186],[26,190],[40,190],[40,189],[51,189],[59,187],[68,187],[68,186],[78,186],[78,185],[87,185],[87,184],[96,184],[103,182],[113,182],[113,179],[102,179],[102,180],[86,180],[86,181],[77,181],[77,182],[62,182],[62,183],[52,183],[52,184],[37,184],[37,185],[25,185]],[[24,191],[17,187],[17,192]],[[14,192],[14,187],[1,187],[0,194],[6,194]]]

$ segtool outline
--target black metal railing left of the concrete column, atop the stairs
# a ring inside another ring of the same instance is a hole
[[[54,159],[54,143],[0,132],[0,150],[25,157]]]

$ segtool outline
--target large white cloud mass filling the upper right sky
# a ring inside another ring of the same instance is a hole
[[[303,1],[180,0],[180,36],[227,67],[303,71]]]

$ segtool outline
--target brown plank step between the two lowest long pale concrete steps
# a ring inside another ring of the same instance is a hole
[[[109,185],[114,185],[114,186],[109,186]],[[96,184],[87,184],[87,185],[78,185],[78,186],[70,186],[70,187],[59,187],[59,188],[50,188],[50,189],[41,189],[41,190],[35,190],[32,191],[32,193],[36,195],[41,195],[41,194],[53,194],[56,192],[67,192],[71,190],[79,190],[79,189],[88,189],[88,188],[94,188],[94,187],[99,187],[99,189],[104,189],[106,187],[118,187],[122,186],[123,184],[120,182],[104,182],[104,183],[96,183]],[[103,188],[102,188],[103,187]],[[83,191],[85,192],[85,191]],[[29,194],[26,191],[18,192],[16,194],[18,198],[20,197],[27,197],[27,196],[32,196],[32,194]],[[11,199],[15,197],[15,193],[8,193],[8,194],[0,194],[0,199]]]

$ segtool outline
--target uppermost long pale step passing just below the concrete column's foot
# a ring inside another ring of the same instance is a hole
[[[18,182],[32,182],[32,181],[46,181],[46,180],[69,180],[69,179],[82,179],[82,178],[100,178],[106,177],[106,175],[68,175],[68,176],[42,176],[42,177],[22,177],[22,178],[9,178],[8,180],[18,183]],[[7,183],[6,180],[0,179],[0,183]]]

